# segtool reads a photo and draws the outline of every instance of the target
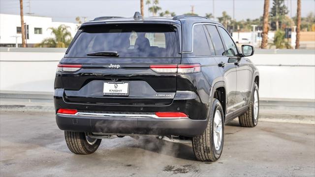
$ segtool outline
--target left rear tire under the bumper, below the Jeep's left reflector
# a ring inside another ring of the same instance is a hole
[[[85,133],[64,131],[65,142],[69,150],[75,154],[91,154],[98,148],[101,139],[90,139],[88,142]]]

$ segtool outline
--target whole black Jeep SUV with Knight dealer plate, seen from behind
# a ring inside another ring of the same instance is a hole
[[[216,161],[224,123],[258,121],[259,74],[223,26],[198,16],[98,17],[81,25],[55,79],[56,121],[73,153],[139,135],[192,142]]]

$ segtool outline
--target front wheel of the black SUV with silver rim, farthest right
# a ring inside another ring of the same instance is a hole
[[[258,86],[255,83],[249,107],[244,114],[238,117],[238,120],[242,127],[254,127],[258,123],[258,117],[259,117],[259,94],[258,94]]]

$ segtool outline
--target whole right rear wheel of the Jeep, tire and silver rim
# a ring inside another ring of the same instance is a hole
[[[192,148],[199,161],[218,160],[224,142],[224,114],[220,101],[213,100],[208,125],[204,133],[193,137]]]

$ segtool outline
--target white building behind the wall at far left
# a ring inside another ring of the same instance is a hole
[[[36,43],[40,43],[43,39],[53,37],[49,28],[57,28],[64,24],[69,27],[71,36],[77,32],[79,24],[67,22],[53,22],[51,17],[24,16],[24,23],[27,29],[27,45],[32,47]],[[0,14],[0,47],[15,47],[22,43],[21,34],[21,18],[20,15]]]

